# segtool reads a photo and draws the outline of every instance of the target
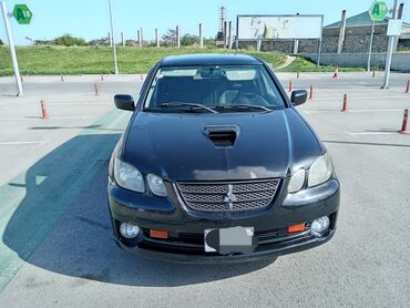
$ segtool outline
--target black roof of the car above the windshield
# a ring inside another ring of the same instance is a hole
[[[255,65],[262,64],[257,58],[247,54],[234,53],[196,53],[165,57],[160,61],[160,66],[187,66],[187,65]]]

